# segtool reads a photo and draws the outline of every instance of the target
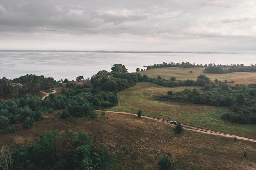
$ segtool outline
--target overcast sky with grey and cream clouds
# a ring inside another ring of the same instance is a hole
[[[0,50],[256,51],[256,0],[0,0]]]

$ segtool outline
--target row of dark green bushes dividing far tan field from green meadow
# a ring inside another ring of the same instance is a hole
[[[205,75],[197,76],[197,80],[176,80],[175,77],[171,77],[170,80],[162,79],[160,76],[157,78],[148,78],[147,75],[143,75],[143,81],[152,82],[154,84],[164,87],[178,87],[178,86],[205,86],[206,84],[212,84],[211,80]]]

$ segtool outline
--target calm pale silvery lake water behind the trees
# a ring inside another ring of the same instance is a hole
[[[256,64],[255,53],[106,53],[75,51],[0,51],[0,77],[13,79],[25,74],[44,75],[56,80],[88,78],[99,70],[111,71],[115,63],[129,72],[163,62],[196,64]],[[144,68],[143,68],[144,69]]]

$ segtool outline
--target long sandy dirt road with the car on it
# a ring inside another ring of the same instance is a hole
[[[128,114],[128,115],[137,116],[136,114],[127,113],[127,112],[114,112],[114,111],[104,111],[104,112],[106,112],[106,113],[115,113],[115,114]],[[141,116],[141,117],[146,118],[146,119],[152,119],[152,120],[155,120],[155,121],[158,121],[158,122],[162,122],[162,123],[165,123],[165,124],[169,124],[169,125],[171,125],[173,127],[175,126],[175,124],[170,123],[169,120],[158,119],[158,118],[150,117],[150,116]],[[184,129],[190,130],[190,131],[194,131],[194,132],[199,132],[199,133],[204,133],[204,134],[211,134],[211,135],[217,135],[217,136],[222,136],[222,137],[229,137],[229,138],[236,137],[237,139],[240,139],[240,140],[247,140],[247,141],[251,141],[251,142],[256,142],[256,140],[250,139],[250,138],[246,138],[246,137],[230,135],[230,134],[224,134],[224,133],[221,133],[221,132],[215,132],[215,131],[212,131],[212,130],[202,129],[202,128],[199,128],[199,127],[193,127],[193,126],[190,126],[190,125],[182,124],[182,126],[183,126]]]

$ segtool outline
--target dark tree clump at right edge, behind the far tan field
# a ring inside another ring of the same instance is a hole
[[[204,69],[203,73],[225,74],[232,72],[256,72],[256,65],[244,66],[240,65],[224,65],[224,66],[209,66]]]

